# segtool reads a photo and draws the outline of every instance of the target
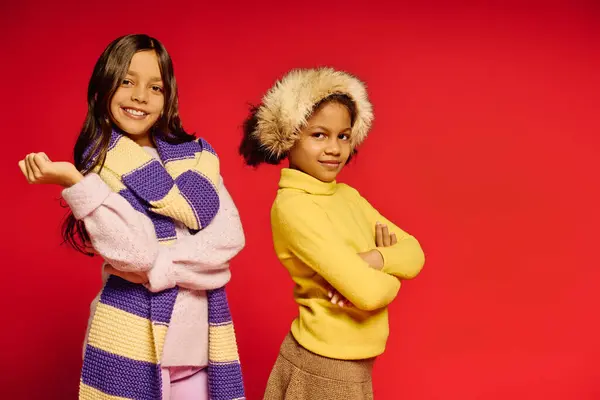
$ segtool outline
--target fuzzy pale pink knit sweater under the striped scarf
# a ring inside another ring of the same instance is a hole
[[[146,150],[156,157],[154,149]],[[219,212],[209,226],[190,235],[178,225],[177,242],[163,246],[150,219],[112,192],[98,175],[89,174],[63,191],[75,218],[83,220],[94,249],[104,258],[103,267],[146,273],[152,291],[179,286],[165,339],[165,367],[208,363],[206,290],[229,281],[228,262],[245,244],[237,208],[222,179],[219,197]],[[102,275],[106,281],[107,274]],[[99,295],[92,302],[90,321],[98,299]]]

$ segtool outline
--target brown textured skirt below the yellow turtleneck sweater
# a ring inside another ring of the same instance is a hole
[[[374,361],[322,357],[300,346],[289,333],[269,376],[264,400],[372,400]]]

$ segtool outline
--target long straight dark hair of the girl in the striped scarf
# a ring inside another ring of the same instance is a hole
[[[75,167],[84,175],[97,166],[102,168],[104,165],[114,128],[110,102],[127,74],[133,55],[148,50],[154,51],[158,58],[165,96],[163,114],[152,127],[150,134],[153,136],[160,132],[166,141],[173,144],[194,140],[194,135],[186,133],[181,124],[173,62],[165,47],[148,35],[122,36],[104,49],[88,84],[88,112],[73,150]],[[91,242],[85,226],[82,221],[77,221],[72,213],[65,218],[62,236],[64,242],[75,250],[93,255],[89,250]]]

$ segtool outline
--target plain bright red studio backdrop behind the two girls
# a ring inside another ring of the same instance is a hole
[[[364,79],[375,107],[341,180],[427,255],[391,307],[376,398],[600,398],[598,3],[225,3],[2,2],[2,397],[76,397],[100,285],[99,260],[60,246],[59,190],[17,161],[70,159],[96,59],[146,32],[241,212],[228,291],[250,400],[296,308],[271,245],[278,168],[242,165],[240,125],[274,79],[323,64]]]

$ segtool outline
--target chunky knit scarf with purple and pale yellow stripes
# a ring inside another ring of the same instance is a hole
[[[203,139],[172,145],[156,139],[164,164],[113,132],[100,177],[154,223],[161,244],[176,239],[175,220],[191,232],[219,209],[219,159]],[[162,398],[160,360],[178,287],[152,293],[111,275],[88,335],[79,399]],[[207,292],[211,400],[244,399],[237,344],[225,289]],[[166,400],[166,399],[165,399]]]

